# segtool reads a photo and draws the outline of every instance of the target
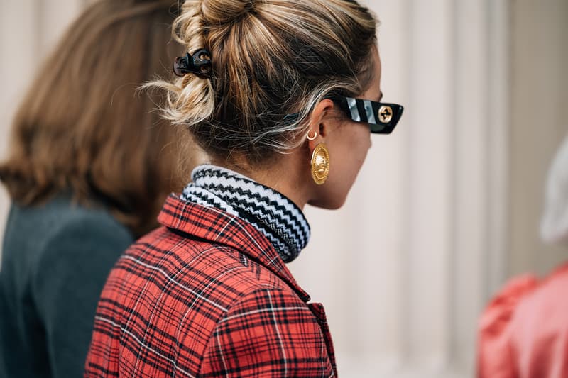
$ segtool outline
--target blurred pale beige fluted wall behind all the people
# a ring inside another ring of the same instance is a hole
[[[87,2],[0,0],[0,156],[41,58]],[[373,137],[343,209],[307,209],[312,241],[291,267],[327,308],[343,377],[473,377],[488,297],[568,260],[538,235],[568,132],[568,1],[366,3],[385,100],[405,115]]]

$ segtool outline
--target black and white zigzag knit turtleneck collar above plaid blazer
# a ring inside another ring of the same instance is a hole
[[[251,223],[271,241],[284,262],[294,260],[310,239],[310,225],[293,201],[229,169],[200,165],[181,199],[212,206]]]

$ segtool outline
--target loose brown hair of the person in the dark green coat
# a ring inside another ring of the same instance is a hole
[[[61,194],[102,205],[134,235],[157,226],[165,196],[182,188],[178,130],[136,91],[169,72],[175,0],[89,6],[42,65],[19,106],[0,179],[33,206]]]

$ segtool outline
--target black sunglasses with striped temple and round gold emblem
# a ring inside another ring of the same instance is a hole
[[[390,134],[403,115],[404,107],[351,97],[330,97],[352,121],[368,123],[371,133]]]

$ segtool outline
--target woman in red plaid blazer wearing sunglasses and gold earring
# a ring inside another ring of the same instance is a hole
[[[354,0],[187,0],[187,54],[160,82],[165,116],[209,157],[131,246],[99,301],[86,376],[330,377],[320,304],[285,262],[310,238],[306,204],[337,209],[379,104],[376,20]]]

